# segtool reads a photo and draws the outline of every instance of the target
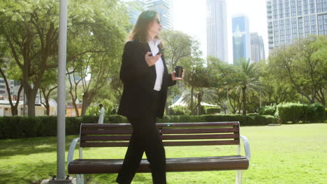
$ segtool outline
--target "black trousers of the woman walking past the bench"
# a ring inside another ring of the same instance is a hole
[[[129,184],[133,180],[140,165],[143,153],[147,155],[152,169],[154,184],[166,184],[166,155],[161,137],[156,126],[159,93],[154,91],[151,97],[152,108],[150,116],[131,118],[129,123],[133,126],[133,134],[129,141],[122,169],[117,176],[117,183]]]

